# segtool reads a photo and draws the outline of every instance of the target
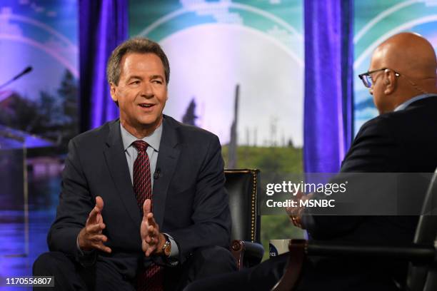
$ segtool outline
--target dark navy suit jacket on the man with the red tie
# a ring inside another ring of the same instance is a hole
[[[224,188],[223,159],[217,136],[164,116],[154,180],[153,212],[161,232],[179,246],[184,262],[196,247],[228,246],[231,217]],[[56,220],[48,235],[50,250],[58,250],[84,264],[96,253],[81,256],[76,237],[95,205],[102,211],[112,253],[99,252],[98,260],[113,263],[122,275],[133,278],[140,264],[148,265],[141,251],[141,213],[129,175],[120,122],[111,121],[82,133],[69,143]]]

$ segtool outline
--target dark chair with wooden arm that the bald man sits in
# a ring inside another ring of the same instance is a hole
[[[396,282],[399,290],[437,290],[437,169],[431,178],[415,238],[408,245],[358,245],[341,242],[291,240],[286,272],[272,291],[290,291],[296,285],[306,256],[375,257],[410,262],[406,282]]]

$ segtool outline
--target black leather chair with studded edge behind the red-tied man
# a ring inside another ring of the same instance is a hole
[[[261,219],[256,203],[260,189],[259,175],[259,170],[225,170],[232,218],[231,252],[236,258],[238,270],[256,265],[263,258]]]

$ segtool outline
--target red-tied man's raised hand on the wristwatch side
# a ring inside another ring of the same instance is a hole
[[[159,225],[156,223],[154,214],[151,213],[151,200],[146,199],[143,205],[143,221],[141,221],[141,247],[146,257],[149,255],[161,255],[162,246],[166,238],[159,233]]]

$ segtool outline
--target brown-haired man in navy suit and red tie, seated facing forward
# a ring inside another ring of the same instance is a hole
[[[49,249],[58,290],[180,290],[235,270],[217,136],[163,115],[169,61],[130,39],[107,66],[120,118],[69,143]]]

